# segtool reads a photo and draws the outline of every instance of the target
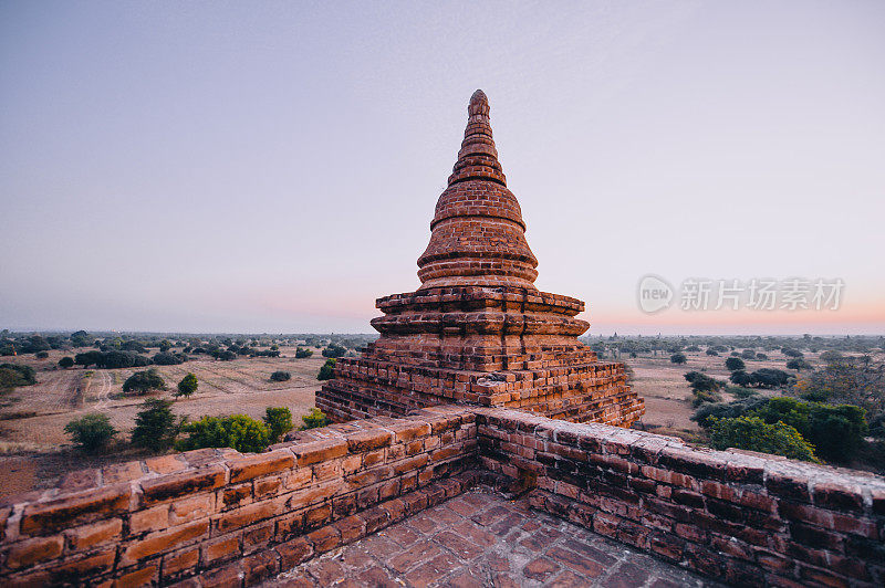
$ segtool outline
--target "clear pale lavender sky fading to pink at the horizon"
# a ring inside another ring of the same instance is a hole
[[[480,87],[591,334],[885,332],[884,31],[881,1],[2,1],[0,328],[371,332]],[[646,315],[645,274],[845,285]]]

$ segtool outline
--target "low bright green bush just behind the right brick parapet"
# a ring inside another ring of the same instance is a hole
[[[793,427],[767,423],[758,417],[711,419],[710,442],[716,449],[738,448],[783,455],[791,460],[813,461],[814,447]]]

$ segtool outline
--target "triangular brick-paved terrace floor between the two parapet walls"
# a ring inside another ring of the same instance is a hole
[[[266,588],[720,586],[529,507],[473,491],[285,571]]]

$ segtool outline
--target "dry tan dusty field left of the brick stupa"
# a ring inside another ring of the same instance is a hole
[[[314,392],[321,382],[316,374],[325,358],[315,350],[304,359],[294,359],[294,348],[282,348],[279,358],[238,358],[232,361],[198,359],[179,366],[154,366],[166,380],[168,390],[153,398],[174,398],[178,381],[194,372],[199,381],[197,393],[177,398],[173,411],[191,419],[202,416],[244,413],[260,419],[267,407],[288,407],[295,422],[314,406]],[[128,438],[135,416],[147,397],[114,398],[123,392],[123,382],[134,371],[128,369],[58,368],[61,351],[50,351],[46,359],[4,357],[0,363],[28,364],[37,369],[38,384],[17,388],[0,398],[0,497],[45,487],[66,471],[95,465],[97,461],[134,459],[131,451],[113,451],[98,460],[70,448],[64,426],[87,412],[104,412],[113,426]],[[270,381],[277,370],[292,374],[283,382]]]

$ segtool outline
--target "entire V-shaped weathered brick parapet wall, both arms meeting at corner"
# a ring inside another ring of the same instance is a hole
[[[881,476],[464,406],[75,472],[0,505],[0,584],[249,586],[490,477],[720,581],[885,585]]]

